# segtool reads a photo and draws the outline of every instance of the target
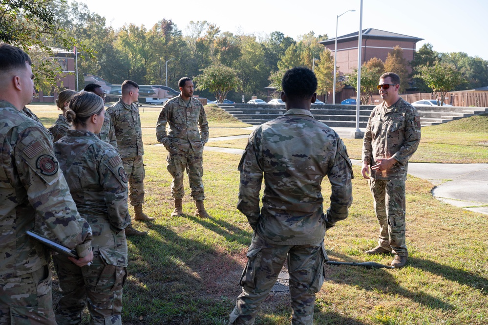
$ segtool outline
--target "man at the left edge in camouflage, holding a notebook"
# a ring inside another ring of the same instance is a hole
[[[0,45],[0,324],[56,324],[50,251],[27,236],[33,230],[93,258],[91,228],[81,218],[42,125],[22,112],[32,100],[31,60]]]

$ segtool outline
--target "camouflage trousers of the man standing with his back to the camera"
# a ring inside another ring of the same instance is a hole
[[[237,297],[229,324],[254,324],[261,303],[276,283],[285,260],[290,274],[292,324],[313,324],[315,294],[324,282],[324,266],[328,260],[323,241],[311,245],[275,245],[253,235],[247,257],[239,282],[242,293]]]

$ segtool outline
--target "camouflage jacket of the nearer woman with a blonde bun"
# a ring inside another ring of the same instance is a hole
[[[119,154],[86,130],[68,130],[54,144],[54,152],[78,211],[91,226],[93,249],[107,264],[127,266],[124,228],[130,217],[127,175]]]

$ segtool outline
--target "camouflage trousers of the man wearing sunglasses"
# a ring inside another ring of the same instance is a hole
[[[370,178],[369,185],[380,223],[379,245],[393,254],[408,256],[405,244],[405,181]]]

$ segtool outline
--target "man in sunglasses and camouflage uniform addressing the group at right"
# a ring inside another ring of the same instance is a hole
[[[405,244],[405,180],[408,159],[420,142],[420,117],[400,98],[400,77],[391,72],[380,78],[382,104],[373,108],[362,145],[362,169],[369,179],[376,217],[380,223],[378,246],[366,254],[395,254],[391,266],[403,267]],[[371,166],[371,168],[370,168]],[[368,175],[369,173],[370,176]]]

